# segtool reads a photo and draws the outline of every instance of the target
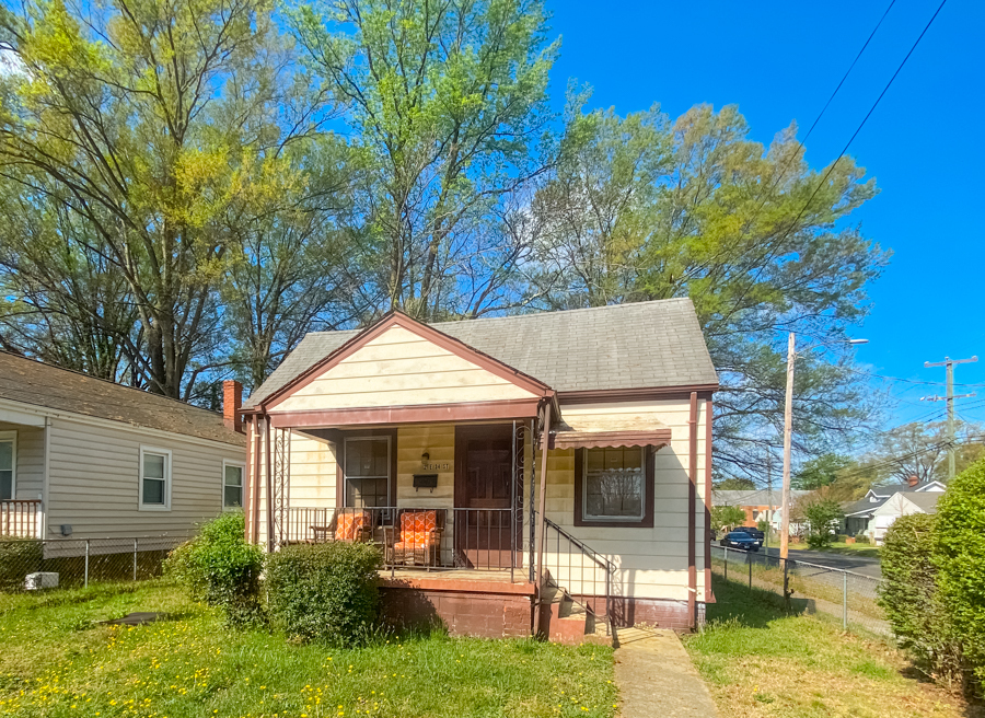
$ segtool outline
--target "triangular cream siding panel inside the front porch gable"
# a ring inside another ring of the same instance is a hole
[[[530,392],[402,327],[294,391],[273,413],[530,398]]]

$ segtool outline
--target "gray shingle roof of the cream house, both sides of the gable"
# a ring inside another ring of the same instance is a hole
[[[431,326],[558,392],[718,383],[690,299]],[[359,333],[309,334],[245,406],[264,401]]]

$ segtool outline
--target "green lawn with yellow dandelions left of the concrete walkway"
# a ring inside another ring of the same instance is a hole
[[[99,625],[134,611],[169,619]],[[172,586],[0,597],[0,715],[465,717],[615,713],[609,648],[381,636],[361,649],[225,629]]]

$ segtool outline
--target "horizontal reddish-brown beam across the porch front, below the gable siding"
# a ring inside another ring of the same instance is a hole
[[[381,406],[372,408],[315,409],[271,413],[276,428],[315,426],[356,426],[366,424],[430,424],[434,421],[476,421],[484,419],[525,419],[537,415],[541,399],[507,399],[461,404],[421,404],[420,406]]]

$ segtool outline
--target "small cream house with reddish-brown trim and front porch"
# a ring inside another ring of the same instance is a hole
[[[376,544],[394,623],[694,628],[717,387],[686,299],[309,334],[243,406],[247,537]]]

